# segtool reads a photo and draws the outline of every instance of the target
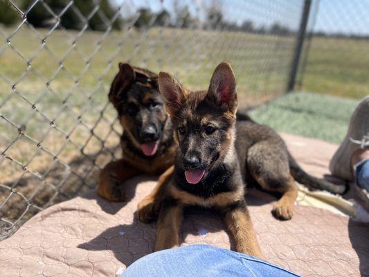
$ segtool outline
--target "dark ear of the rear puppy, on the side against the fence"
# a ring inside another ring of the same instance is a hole
[[[116,74],[113,82],[111,83],[109,91],[109,100],[117,107],[122,93],[124,93],[129,86],[134,82],[136,78],[136,73],[134,69],[129,64],[119,63],[119,72]]]

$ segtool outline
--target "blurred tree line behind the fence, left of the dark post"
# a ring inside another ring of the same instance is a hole
[[[21,10],[28,10],[33,2],[34,0],[15,1]],[[111,5],[109,0],[100,1],[99,10],[101,12],[95,12],[96,1],[94,0],[74,0],[73,6],[67,10],[64,9],[70,0],[44,0],[43,2],[47,6],[44,6],[42,1],[39,1],[27,13],[28,23],[35,27],[54,26],[57,24],[57,21],[60,21],[64,28],[80,30],[84,28],[87,19],[89,28],[92,30],[107,30],[110,21],[112,21],[111,27],[114,29],[121,29],[125,24],[129,26],[133,24],[136,28],[162,26],[169,28],[204,28],[206,30],[222,29],[276,35],[290,35],[294,33],[286,26],[278,23],[269,27],[255,26],[251,20],[246,20],[242,24],[235,24],[225,20],[222,8],[216,5],[207,8],[206,18],[201,21],[192,16],[186,6],[175,6],[172,14],[167,10],[153,12],[147,8],[140,8],[135,15],[123,18],[122,13],[118,11],[118,8]],[[60,14],[62,14],[60,18],[55,17],[55,15]],[[0,23],[12,25],[20,20],[17,12],[12,10],[5,1],[0,0]]]

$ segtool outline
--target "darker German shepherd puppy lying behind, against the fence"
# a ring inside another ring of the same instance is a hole
[[[159,175],[172,166],[177,144],[158,88],[158,75],[119,63],[109,91],[123,127],[123,158],[100,172],[98,194],[114,202],[125,200],[123,182],[143,173]]]

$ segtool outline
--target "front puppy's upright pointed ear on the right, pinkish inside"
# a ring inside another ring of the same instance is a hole
[[[237,110],[236,80],[235,73],[228,62],[222,62],[215,68],[207,97],[235,114]]]

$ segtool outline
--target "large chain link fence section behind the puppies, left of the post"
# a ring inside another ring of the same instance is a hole
[[[286,91],[303,4],[0,0],[0,239],[120,157],[118,62],[204,89],[228,60],[241,106],[259,105]]]

